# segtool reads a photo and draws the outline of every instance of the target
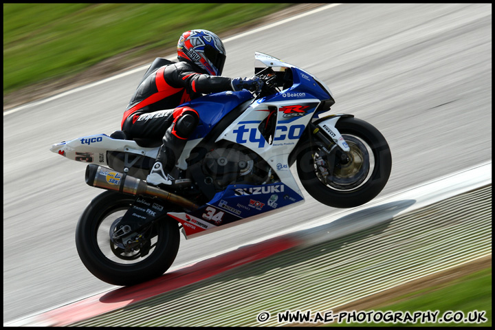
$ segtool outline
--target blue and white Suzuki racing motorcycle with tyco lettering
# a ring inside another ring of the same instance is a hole
[[[146,184],[162,141],[129,140],[123,131],[54,144],[51,151],[89,163],[89,186],[106,191],[84,210],[76,247],[85,267],[113,285],[161,276],[190,239],[298,206],[305,190],[333,208],[353,208],[384,188],[391,151],[374,126],[335,103],[321,80],[256,52],[261,91],[208,94],[181,106],[199,113],[172,173],[173,190]],[[157,58],[145,76],[163,65]]]

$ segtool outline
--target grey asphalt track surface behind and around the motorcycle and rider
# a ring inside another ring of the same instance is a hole
[[[333,112],[380,129],[393,156],[380,196],[492,159],[491,4],[342,4],[225,46],[225,76],[251,76],[254,52],[271,54],[327,82]],[[102,190],[85,184],[84,164],[49,148],[118,129],[144,71],[3,116],[4,322],[114,288],[74,243]],[[339,211],[305,196],[272,217],[182,238],[173,267]]]

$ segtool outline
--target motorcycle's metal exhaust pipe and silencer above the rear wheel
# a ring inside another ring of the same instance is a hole
[[[86,168],[86,183],[89,186],[107,190],[115,190],[128,195],[155,196],[170,203],[175,203],[189,210],[197,210],[199,206],[184,197],[171,192],[148,186],[146,182],[137,177],[131,177],[125,173],[117,172],[111,168],[89,164]]]

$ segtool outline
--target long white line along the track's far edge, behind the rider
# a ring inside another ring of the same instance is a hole
[[[310,10],[309,12],[303,12],[302,14],[298,14],[298,15],[296,15],[294,17],[289,17],[288,19],[283,19],[282,21],[278,21],[276,23],[264,25],[264,26],[262,26],[260,28],[256,28],[254,30],[249,30],[249,31],[243,32],[241,34],[236,34],[235,36],[231,36],[230,38],[227,38],[227,39],[223,40],[223,43],[228,43],[229,41],[232,41],[232,40],[235,40],[235,39],[239,39],[239,38],[243,38],[244,36],[249,36],[250,34],[255,34],[255,33],[258,33],[258,32],[264,31],[264,30],[267,30],[267,29],[271,29],[271,28],[274,28],[275,26],[282,25],[282,24],[288,23],[290,21],[295,21],[296,19],[300,19],[302,17],[306,17],[306,16],[309,16],[311,14],[316,14],[317,12],[321,12],[323,10],[330,9],[330,8],[336,7],[337,5],[341,5],[341,4],[342,3],[331,3],[330,5],[324,5],[322,7],[318,7],[316,9],[314,9],[314,10]],[[168,60],[171,61],[175,57],[176,57],[176,55],[170,55],[168,57]],[[34,101],[34,102],[31,102],[31,103],[28,103],[28,104],[24,104],[24,105],[21,105],[20,107],[17,107],[17,108],[14,108],[14,109],[10,109],[8,111],[4,111],[3,112],[3,115],[10,115],[11,113],[15,113],[15,112],[21,111],[23,109],[27,109],[27,108],[30,108],[30,107],[36,107],[37,105],[44,104],[46,102],[50,102],[50,101],[56,100],[58,98],[63,98],[64,96],[77,93],[78,91],[83,91],[83,90],[88,89],[88,88],[91,88],[91,87],[95,87],[95,86],[98,86],[98,85],[101,85],[101,84],[104,84],[104,83],[108,83],[109,81],[120,79],[120,78],[122,78],[124,76],[129,76],[129,74],[135,74],[136,72],[144,71],[148,67],[149,67],[149,64],[144,65],[142,67],[137,67],[137,68],[132,69],[132,70],[130,70],[128,72],[123,72],[122,74],[118,74],[118,75],[112,76],[110,78],[106,78],[104,80],[97,81],[96,83],[91,83],[89,85],[84,85],[84,86],[81,86],[81,87],[77,87],[75,89],[71,89],[70,91],[65,91],[62,94],[57,94],[56,96],[52,96],[50,98],[45,98],[44,100],[39,100],[39,101]]]

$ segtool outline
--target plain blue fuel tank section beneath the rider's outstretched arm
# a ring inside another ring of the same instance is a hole
[[[227,113],[252,98],[252,94],[246,90],[223,91],[181,104],[181,107],[191,107],[199,114],[199,124],[192,133],[190,140],[205,137]]]

